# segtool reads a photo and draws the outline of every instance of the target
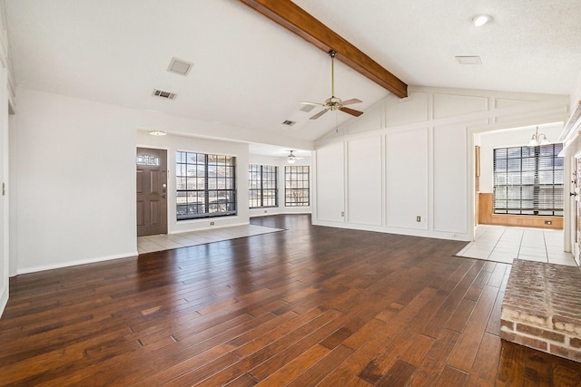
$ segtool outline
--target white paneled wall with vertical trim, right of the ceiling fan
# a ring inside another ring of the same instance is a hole
[[[474,134],[562,125],[568,105],[563,95],[409,87],[409,98],[390,96],[316,141],[313,223],[471,240]]]

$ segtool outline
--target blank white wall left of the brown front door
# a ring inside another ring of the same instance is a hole
[[[135,111],[18,89],[17,273],[136,254]]]

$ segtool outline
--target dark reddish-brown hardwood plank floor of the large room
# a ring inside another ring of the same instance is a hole
[[[252,223],[287,230],[12,278],[0,384],[581,385],[581,364],[500,340],[509,265]]]

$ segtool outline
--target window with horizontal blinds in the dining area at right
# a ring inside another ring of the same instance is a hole
[[[494,150],[494,213],[563,216],[563,144]]]

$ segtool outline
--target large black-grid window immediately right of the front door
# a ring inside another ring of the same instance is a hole
[[[177,219],[236,215],[236,158],[176,153]]]

